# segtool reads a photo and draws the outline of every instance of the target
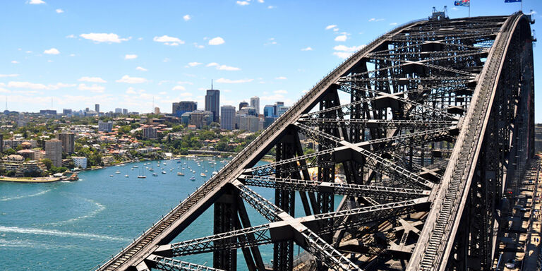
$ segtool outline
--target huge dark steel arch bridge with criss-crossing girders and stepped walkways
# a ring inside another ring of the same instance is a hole
[[[495,234],[480,229],[534,144],[529,23],[418,20],[379,37],[97,270],[236,270],[241,249],[261,271],[270,243],[273,270],[309,266],[294,243],[318,270],[489,270]],[[213,232],[171,243],[211,206]],[[198,253],[213,267],[183,261]]]

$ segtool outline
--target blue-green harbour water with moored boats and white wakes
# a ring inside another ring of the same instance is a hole
[[[201,161],[199,166],[197,161]],[[221,159],[211,157],[181,158],[83,171],[75,182],[0,182],[0,270],[92,270],[118,253],[224,164]],[[185,175],[178,176],[177,172]],[[207,176],[200,176],[202,172]],[[138,179],[140,174],[147,177]],[[272,200],[272,190],[253,189]],[[296,203],[300,205],[299,200]],[[246,207],[253,225],[267,222],[249,205]],[[301,206],[296,207],[296,215],[301,215],[301,211]],[[176,240],[210,234],[212,208]],[[298,253],[299,249],[295,249]],[[264,261],[270,263],[272,245],[260,250]],[[238,270],[246,270],[241,250],[237,258]],[[212,265],[210,253],[181,259]]]

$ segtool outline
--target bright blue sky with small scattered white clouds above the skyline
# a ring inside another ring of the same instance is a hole
[[[452,0],[2,1],[0,95],[23,112],[50,109],[52,98],[59,111],[150,112],[153,97],[171,112],[180,100],[203,107],[214,79],[222,105],[253,95],[261,107],[291,104],[354,49],[445,5],[450,18],[468,15]],[[525,0],[524,12],[541,5]],[[471,16],[519,6],[472,0]],[[534,57],[538,77],[536,47]]]

